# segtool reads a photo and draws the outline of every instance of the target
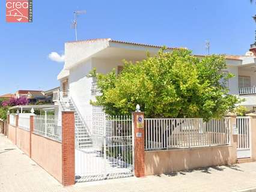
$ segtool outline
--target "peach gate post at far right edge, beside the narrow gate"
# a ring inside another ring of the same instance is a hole
[[[255,113],[248,113],[246,116],[250,116],[250,126],[251,126],[251,141],[250,141],[250,147],[251,147],[251,157],[252,160],[256,161],[256,114]]]

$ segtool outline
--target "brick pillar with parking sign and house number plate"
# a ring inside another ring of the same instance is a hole
[[[134,125],[134,173],[136,177],[145,176],[145,130],[144,130],[144,112],[133,112]]]

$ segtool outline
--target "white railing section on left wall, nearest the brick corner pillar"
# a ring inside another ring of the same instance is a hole
[[[34,116],[34,130],[35,134],[44,137],[49,137],[53,140],[61,142],[62,127],[58,126],[58,118],[53,115],[37,115]]]

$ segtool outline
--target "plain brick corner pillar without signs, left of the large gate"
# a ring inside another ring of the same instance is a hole
[[[62,185],[75,184],[75,116],[62,112]]]

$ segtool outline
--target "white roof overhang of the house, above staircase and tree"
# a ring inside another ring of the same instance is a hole
[[[96,39],[87,41],[73,41],[65,44],[66,61],[64,70],[71,68],[88,61],[91,58],[112,58],[126,59],[127,56],[131,59],[145,58],[147,52],[151,56],[157,54],[163,46],[154,46],[150,44],[130,43],[124,41],[115,41],[110,38]],[[171,52],[174,49],[166,47],[166,52]],[[58,80],[62,79],[61,73]]]

